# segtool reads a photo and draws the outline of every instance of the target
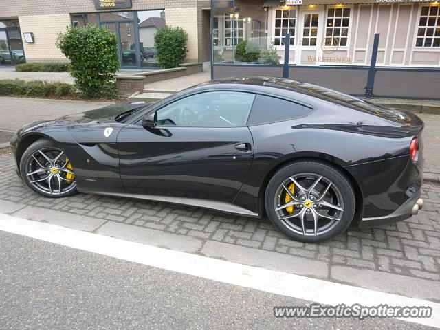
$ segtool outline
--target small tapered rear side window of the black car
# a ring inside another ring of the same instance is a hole
[[[252,111],[250,112],[248,125],[261,125],[270,122],[283,122],[309,115],[313,109],[304,105],[274,98],[272,96],[257,95]]]

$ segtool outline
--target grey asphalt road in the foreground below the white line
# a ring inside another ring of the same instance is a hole
[[[430,329],[393,319],[274,318],[274,306],[309,302],[6,232],[0,265],[0,329]]]

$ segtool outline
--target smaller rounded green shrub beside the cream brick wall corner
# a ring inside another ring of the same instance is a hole
[[[157,62],[162,69],[178,67],[184,61],[188,48],[188,34],[182,28],[164,26],[154,36]]]

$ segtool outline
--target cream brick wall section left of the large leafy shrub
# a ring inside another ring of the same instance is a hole
[[[34,32],[35,43],[23,42],[26,61],[67,62],[67,58],[55,43],[59,32],[71,24],[69,14],[20,16],[21,32]]]

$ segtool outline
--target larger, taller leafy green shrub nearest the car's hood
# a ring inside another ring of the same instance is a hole
[[[56,45],[70,60],[69,72],[85,96],[116,96],[111,84],[120,67],[117,38],[97,25],[75,28],[58,34]]]

